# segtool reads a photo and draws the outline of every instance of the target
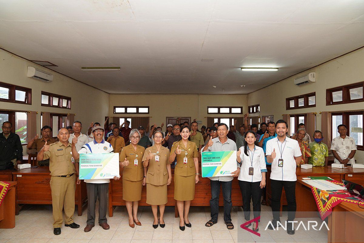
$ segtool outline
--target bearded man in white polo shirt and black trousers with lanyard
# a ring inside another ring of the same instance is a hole
[[[272,138],[266,144],[267,162],[272,163],[270,187],[272,190],[273,220],[268,228],[273,230],[273,227],[278,227],[277,222],[281,221],[281,195],[282,187],[284,187],[288,204],[287,233],[293,235],[293,223],[290,222],[296,217],[296,167],[301,161],[302,153],[298,142],[286,137],[287,127],[288,125],[284,120],[278,120],[276,123],[277,137]]]

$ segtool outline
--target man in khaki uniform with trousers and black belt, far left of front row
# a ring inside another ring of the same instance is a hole
[[[61,234],[63,223],[62,209],[64,208],[66,227],[79,228],[73,221],[75,212],[75,180],[76,170],[71,158],[71,144],[68,142],[70,134],[66,128],[59,129],[57,135],[59,142],[47,145],[37,155],[37,160],[50,159],[52,207],[53,207],[53,233]],[[77,179],[77,184],[80,181]]]

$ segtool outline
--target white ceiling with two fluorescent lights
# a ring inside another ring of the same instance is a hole
[[[0,0],[0,33],[108,93],[246,94],[364,46],[364,1]]]

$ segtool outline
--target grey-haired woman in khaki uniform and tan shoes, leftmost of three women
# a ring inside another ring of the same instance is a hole
[[[142,158],[145,148],[138,145],[140,133],[137,129],[130,131],[129,139],[131,143],[121,150],[119,161],[123,171],[123,200],[129,215],[129,226],[134,228],[135,224],[141,226],[139,222],[138,204],[142,199],[142,188],[145,185],[147,170],[144,168]]]

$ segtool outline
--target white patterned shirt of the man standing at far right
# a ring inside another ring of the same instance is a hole
[[[336,137],[331,141],[331,150],[335,150],[337,155],[339,155],[342,160],[345,160],[352,150],[356,150],[355,140],[349,136],[346,136],[345,139],[340,136]],[[335,158],[334,163],[340,164],[340,161]],[[351,158],[349,163],[355,164],[354,157]]]

